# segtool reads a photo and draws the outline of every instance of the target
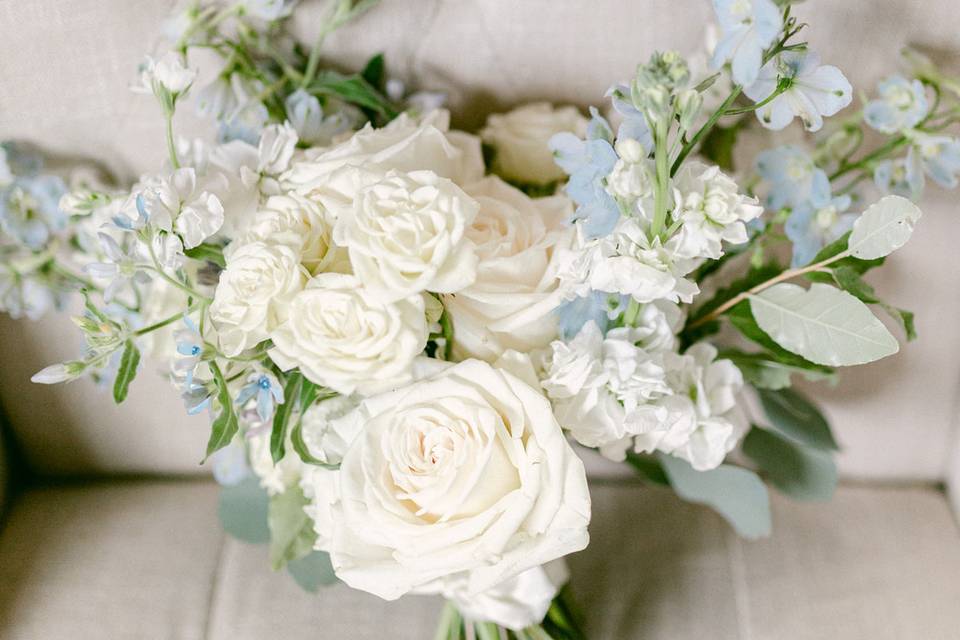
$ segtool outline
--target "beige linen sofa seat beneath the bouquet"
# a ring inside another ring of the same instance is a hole
[[[570,558],[600,640],[954,640],[960,534],[933,489],[841,487],[774,500],[775,532],[738,539],[669,492],[592,489],[592,543]],[[421,640],[441,603],[311,595],[266,548],[224,539],[217,487],[116,481],[28,492],[0,532],[6,640]]]

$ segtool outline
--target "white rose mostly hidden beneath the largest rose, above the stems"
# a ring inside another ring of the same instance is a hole
[[[520,630],[543,622],[560,587],[569,579],[567,563],[559,559],[527,569],[475,595],[467,590],[466,580],[449,580],[441,591],[420,590],[420,593],[441,593],[469,620]]]

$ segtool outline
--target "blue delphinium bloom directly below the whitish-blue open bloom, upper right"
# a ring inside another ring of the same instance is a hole
[[[784,145],[757,156],[757,173],[770,183],[767,207],[774,211],[807,202],[824,205],[830,199],[830,181],[804,151]]]

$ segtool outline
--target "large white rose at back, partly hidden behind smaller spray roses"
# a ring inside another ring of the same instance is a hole
[[[470,184],[484,174],[480,140],[449,131],[449,121],[446,111],[433,111],[420,120],[402,114],[380,129],[368,125],[346,142],[295,162],[281,183],[321,204],[326,204],[331,190],[335,198],[352,199],[353,194],[338,192],[330,184],[330,175],[346,167],[381,173],[426,169],[457,184]]]

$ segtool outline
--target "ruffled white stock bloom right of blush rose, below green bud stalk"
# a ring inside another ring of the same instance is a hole
[[[632,296],[637,302],[690,302],[699,292],[684,276],[696,262],[680,253],[678,236],[650,241],[637,218],[623,218],[613,233],[585,249],[587,281],[596,291]]]

